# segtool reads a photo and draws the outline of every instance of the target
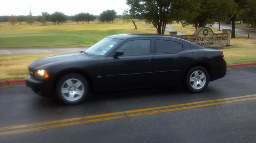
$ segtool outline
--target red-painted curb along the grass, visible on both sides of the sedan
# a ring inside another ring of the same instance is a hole
[[[242,63],[242,64],[230,64],[230,65],[227,65],[227,68],[238,68],[238,67],[247,67],[247,66],[256,66],[256,62]],[[2,87],[4,85],[22,85],[22,84],[25,84],[25,79],[0,80],[0,87]]]

